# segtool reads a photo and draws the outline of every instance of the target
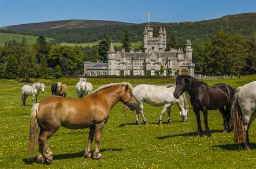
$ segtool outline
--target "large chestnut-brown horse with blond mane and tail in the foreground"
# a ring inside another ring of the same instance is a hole
[[[100,87],[83,98],[51,96],[35,104],[31,109],[29,157],[31,158],[35,153],[38,142],[37,161],[51,164],[52,151],[46,141],[60,126],[64,126],[68,129],[90,128],[89,142],[84,155],[87,158],[91,157],[91,144],[95,135],[93,158],[101,159],[99,140],[104,124],[109,118],[110,110],[119,101],[131,110],[137,108],[132,90],[130,83],[112,83]],[[46,152],[45,156],[43,155],[43,149]]]

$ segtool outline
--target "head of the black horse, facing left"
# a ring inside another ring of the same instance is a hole
[[[191,84],[191,77],[187,75],[179,75],[176,78],[176,88],[174,90],[173,96],[179,98],[184,91],[187,91]]]

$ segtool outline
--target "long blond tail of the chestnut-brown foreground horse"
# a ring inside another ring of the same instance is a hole
[[[31,109],[29,131],[29,158],[32,158],[36,151],[36,145],[39,137],[39,125],[36,118],[39,105],[40,103],[36,103]]]

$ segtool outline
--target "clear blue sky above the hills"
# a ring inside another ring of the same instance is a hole
[[[256,0],[0,0],[0,27],[65,19],[145,23],[215,19],[255,12]]]

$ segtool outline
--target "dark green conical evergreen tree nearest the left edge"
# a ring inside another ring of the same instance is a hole
[[[19,73],[19,64],[16,57],[12,54],[9,54],[8,60],[6,61],[5,67],[5,78],[15,79]]]

